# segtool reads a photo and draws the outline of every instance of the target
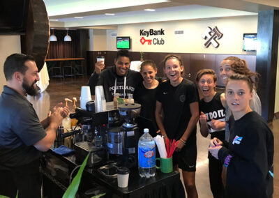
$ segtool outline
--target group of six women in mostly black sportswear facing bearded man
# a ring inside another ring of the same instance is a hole
[[[216,91],[214,70],[199,70],[195,83],[183,77],[183,62],[174,54],[163,60],[165,81],[156,77],[158,68],[151,60],[142,63],[140,73],[130,70],[126,50],[117,52],[114,63],[109,68],[103,61],[95,64],[89,79],[92,93],[96,85],[103,85],[108,102],[114,93],[123,98],[133,93],[142,105],[140,115],[150,119],[164,139],[179,142],[173,163],[175,169],[182,170],[188,197],[198,197],[198,121],[202,136],[211,135],[209,181],[213,197],[272,197],[273,133],[261,116],[258,74],[249,70],[244,59],[229,56],[220,63],[225,93]]]

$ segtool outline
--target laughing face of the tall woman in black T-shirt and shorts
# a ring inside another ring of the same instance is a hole
[[[184,67],[180,65],[178,59],[168,59],[165,62],[164,72],[170,82],[179,82],[182,78],[181,73],[183,72],[183,70]]]

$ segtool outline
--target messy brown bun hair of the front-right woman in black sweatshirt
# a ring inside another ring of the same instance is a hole
[[[254,80],[252,80],[254,84],[254,89],[257,89],[257,82],[259,81],[259,73],[252,73],[250,69],[248,68],[248,63],[244,59],[239,59],[236,56],[228,56],[224,60],[232,61],[230,64],[232,71],[236,74],[240,75],[246,75],[248,77],[254,77]],[[252,79],[252,78],[251,78]]]

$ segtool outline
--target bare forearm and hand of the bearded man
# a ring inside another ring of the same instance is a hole
[[[45,130],[47,135],[45,135],[43,139],[40,139],[38,142],[33,144],[33,146],[35,146],[35,148],[37,148],[39,151],[47,151],[50,149],[50,146],[52,146],[56,137],[56,130],[63,120],[62,112],[62,107],[56,109],[56,111],[49,117],[50,124]]]

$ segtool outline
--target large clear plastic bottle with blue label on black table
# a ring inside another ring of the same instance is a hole
[[[140,176],[145,176],[146,178],[149,178],[150,176],[155,176],[156,148],[152,136],[149,135],[148,128],[144,128],[144,135],[140,137],[138,152]]]

